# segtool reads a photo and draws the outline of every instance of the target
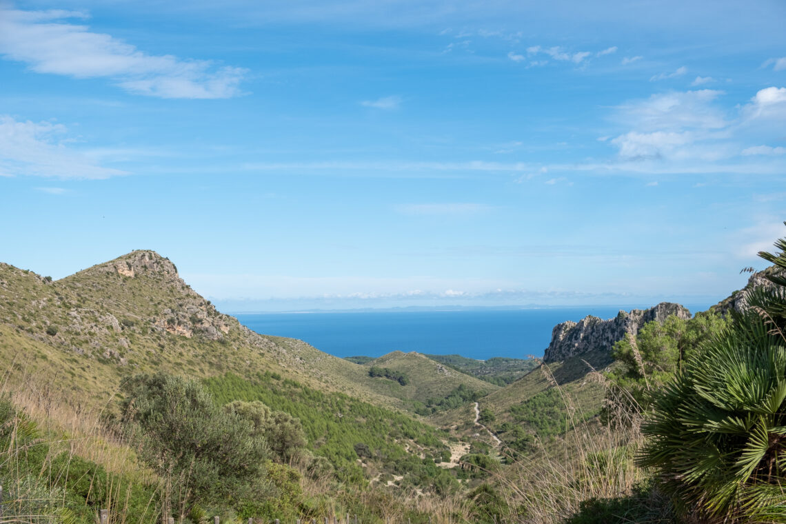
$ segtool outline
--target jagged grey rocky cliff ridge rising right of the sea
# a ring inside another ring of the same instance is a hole
[[[608,321],[598,317],[584,317],[576,322],[567,321],[556,324],[551,332],[551,343],[543,354],[543,361],[563,361],[590,350],[612,350],[618,340],[626,333],[636,335],[641,327],[651,321],[663,322],[669,315],[689,319],[690,311],[679,304],[661,302],[648,310],[631,310],[619,314]]]

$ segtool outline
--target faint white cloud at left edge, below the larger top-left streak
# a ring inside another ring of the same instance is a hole
[[[52,178],[109,178],[127,171],[102,167],[68,147],[68,130],[51,122],[0,115],[0,174]]]

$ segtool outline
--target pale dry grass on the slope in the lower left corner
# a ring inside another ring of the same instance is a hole
[[[14,368],[14,364],[24,369],[24,362],[12,362],[9,369]],[[155,486],[159,480],[138,463],[134,451],[116,436],[116,432],[105,429],[101,423],[101,409],[86,407],[94,404],[72,398],[70,392],[58,390],[48,381],[42,383],[35,376],[9,370],[0,382],[0,398],[8,398],[17,409],[16,416],[6,427],[9,445],[0,450],[0,465],[11,472],[3,486],[5,518],[0,518],[0,524],[70,522],[74,519],[66,501],[68,484],[63,485],[60,481],[69,478],[75,457],[106,471],[103,478],[94,475],[87,480],[90,491],[101,489],[105,493],[104,508],[109,510],[109,522],[131,524],[127,519],[130,486],[135,483]],[[24,436],[31,428],[35,428],[36,436],[28,442]],[[48,449],[41,470],[26,471],[24,453],[37,445],[46,445]],[[60,460],[56,461],[57,457]],[[96,482],[106,484],[97,486]],[[149,500],[149,512],[141,516],[140,524],[155,519],[156,504]]]

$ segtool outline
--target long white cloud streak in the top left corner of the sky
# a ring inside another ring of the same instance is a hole
[[[161,98],[229,98],[240,94],[244,68],[210,60],[150,55],[68,19],[84,13],[0,7],[0,54],[32,71],[78,79],[106,78],[130,93]]]

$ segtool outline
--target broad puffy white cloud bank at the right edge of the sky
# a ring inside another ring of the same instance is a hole
[[[778,174],[786,170],[786,148],[757,145],[778,140],[786,119],[786,88],[759,90],[747,104],[726,110],[719,90],[658,93],[616,108],[614,119],[627,127],[608,141],[616,157],[572,170],[630,174]],[[757,158],[759,157],[759,158]],[[550,166],[558,172],[560,168]],[[567,167],[564,167],[567,169]]]

